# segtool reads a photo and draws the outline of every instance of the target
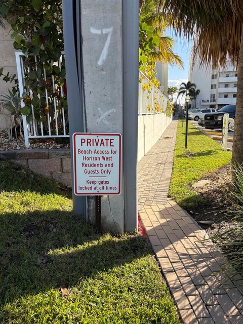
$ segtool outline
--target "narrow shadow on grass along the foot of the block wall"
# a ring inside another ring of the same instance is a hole
[[[0,191],[29,190],[41,194],[56,193],[71,197],[71,189],[36,175],[29,169],[9,161],[0,161]]]

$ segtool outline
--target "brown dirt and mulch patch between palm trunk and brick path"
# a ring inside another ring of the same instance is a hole
[[[231,166],[226,165],[217,171],[208,174],[203,179],[207,180],[202,186],[191,186],[191,190],[197,192],[206,204],[202,208],[198,206],[189,211],[191,216],[199,223],[200,221],[213,222],[211,225],[200,224],[209,236],[218,235],[226,230],[237,227],[233,220],[236,210],[233,206],[235,201],[232,195]]]

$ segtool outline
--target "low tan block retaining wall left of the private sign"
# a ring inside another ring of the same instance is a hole
[[[69,149],[0,151],[0,160],[11,160],[46,178],[72,186]]]

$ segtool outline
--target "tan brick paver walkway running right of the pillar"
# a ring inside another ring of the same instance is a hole
[[[175,201],[166,202],[171,175],[158,163],[173,159],[176,127],[175,120],[166,130],[170,141],[163,134],[141,161],[139,197],[146,198],[140,200],[143,225],[184,323],[242,324],[243,278],[217,272],[224,267],[224,256],[212,241],[202,241],[205,231]],[[164,152],[167,149],[173,153]],[[172,163],[168,166],[172,171]]]

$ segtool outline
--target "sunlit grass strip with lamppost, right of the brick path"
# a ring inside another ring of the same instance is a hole
[[[190,210],[195,205],[204,205],[204,200],[190,190],[190,185],[208,173],[230,163],[232,153],[221,149],[220,144],[199,132],[192,124],[188,124],[187,150],[195,156],[186,157],[185,123],[179,120],[177,128],[174,167],[169,194],[183,208]]]

